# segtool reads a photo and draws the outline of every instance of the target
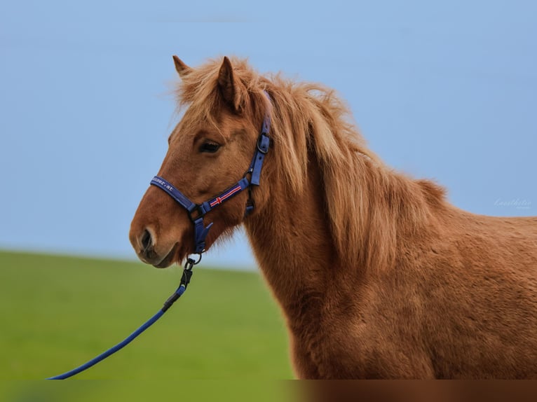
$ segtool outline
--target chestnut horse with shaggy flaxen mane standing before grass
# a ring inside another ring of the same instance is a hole
[[[201,247],[245,226],[297,377],[537,377],[537,217],[470,214],[394,172],[322,85],[227,57],[174,60],[186,111],[158,176],[196,212],[150,186],[130,228],[142,261],[163,268],[195,251],[199,205],[249,177],[269,116],[259,186],[203,212]]]

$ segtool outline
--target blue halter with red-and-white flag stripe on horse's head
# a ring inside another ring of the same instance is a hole
[[[270,102],[271,97],[269,97],[269,94],[266,91],[264,91],[264,94],[269,98]],[[189,198],[181,193],[181,191],[175,188],[172,183],[163,179],[162,177],[154,176],[154,178],[151,180],[151,185],[161,188],[168,193],[168,195],[170,195],[170,197],[172,197],[179,205],[186,209],[186,212],[189,214],[189,219],[194,226],[194,254],[201,254],[203,251],[205,251],[205,237],[207,237],[212,223],[209,223],[208,226],[205,227],[203,224],[203,217],[211,209],[214,209],[225,201],[230,200],[232,197],[246,189],[248,189],[249,194],[248,201],[246,203],[245,216],[250,214],[250,212],[252,212],[254,209],[254,200],[252,200],[252,186],[259,186],[259,178],[261,176],[263,161],[266,153],[269,152],[270,129],[271,117],[269,113],[265,113],[261,133],[257,138],[257,146],[254,152],[254,157],[252,158],[250,167],[248,167],[243,178],[240,179],[235,185],[229,187],[223,193],[220,193],[208,201],[202,202],[201,204],[196,204],[195,202],[189,200]],[[250,180],[247,178],[248,175],[250,175]]]

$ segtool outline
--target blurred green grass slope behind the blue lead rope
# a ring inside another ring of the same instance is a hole
[[[0,378],[63,373],[161,308],[182,268],[0,252]],[[81,379],[292,378],[280,311],[257,272],[194,268],[184,296]]]

